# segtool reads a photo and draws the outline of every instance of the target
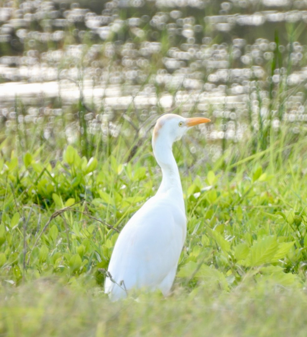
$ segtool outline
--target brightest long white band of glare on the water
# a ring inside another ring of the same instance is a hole
[[[123,88],[120,85],[108,86],[106,88],[95,88],[91,81],[85,81],[82,90],[71,81],[52,81],[41,83],[20,83],[9,82],[0,84],[0,102],[13,103],[16,98],[22,99],[27,104],[33,104],[41,98],[60,97],[63,103],[69,104],[77,101],[80,97],[86,103],[94,102],[97,106],[107,104],[114,109],[127,109],[130,104],[134,104],[136,108],[145,108],[151,105],[159,104],[165,108],[171,108],[173,102],[182,104],[183,107],[198,103],[200,110],[208,108],[210,104],[225,104],[246,102],[248,96],[226,95],[223,87],[220,91],[204,93],[202,91],[177,91],[175,95],[162,94],[159,98],[154,94],[154,87],[151,88],[151,94],[144,95],[139,92],[138,86],[129,86],[127,91],[135,92],[135,95],[123,95]]]

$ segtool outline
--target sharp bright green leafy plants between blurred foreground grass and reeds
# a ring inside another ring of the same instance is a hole
[[[262,282],[270,273],[280,284],[305,282],[307,217],[297,198],[306,193],[304,161],[291,164],[299,153],[278,168],[266,153],[239,160],[236,175],[217,168],[194,172],[193,183],[183,178],[189,221],[177,274],[182,285],[230,291],[246,275]],[[120,229],[160,180],[146,169],[150,158],[137,164],[119,158],[114,152],[88,160],[70,145],[53,165],[35,152],[21,161],[14,152],[2,158],[2,279],[20,284],[58,275],[69,282],[87,275],[103,284],[100,270],[117,238],[112,228]]]

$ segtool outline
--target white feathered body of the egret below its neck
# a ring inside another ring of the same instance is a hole
[[[127,222],[118,236],[105,281],[112,299],[125,297],[124,289],[172,286],[186,235],[182,210],[167,197],[150,198]],[[119,286],[121,284],[121,286]]]

